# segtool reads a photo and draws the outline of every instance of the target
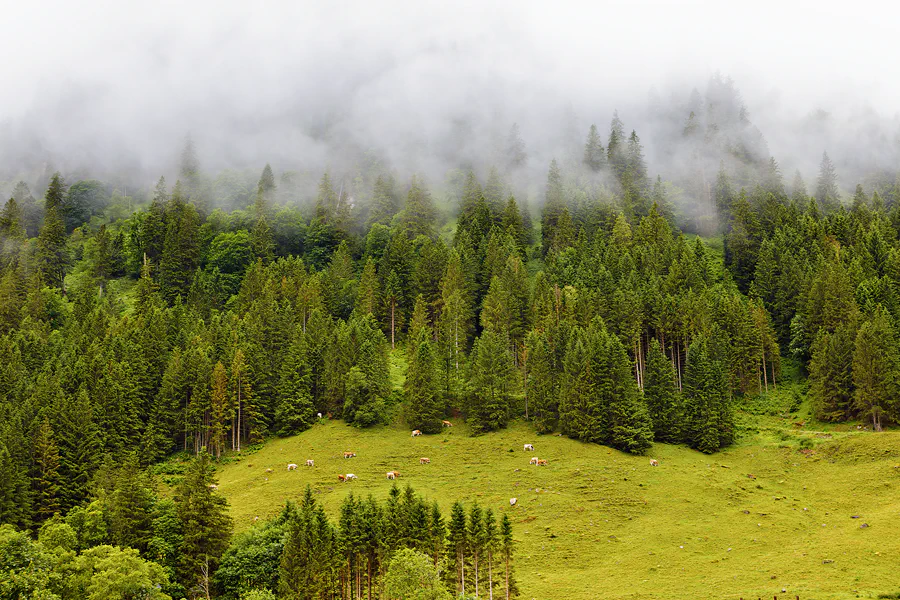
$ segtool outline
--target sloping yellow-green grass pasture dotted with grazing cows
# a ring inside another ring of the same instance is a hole
[[[757,427],[712,456],[665,444],[630,456],[538,436],[520,422],[478,437],[455,422],[412,438],[399,426],[333,421],[223,465],[219,489],[240,531],[307,484],[332,516],[351,491],[384,498],[392,485],[385,473],[396,469],[402,485],[445,511],[459,499],[510,514],[523,598],[896,593],[900,434],[797,429],[796,415],[742,418]],[[345,450],[357,457],[342,458]],[[420,465],[423,456],[431,464]],[[530,466],[532,456],[549,466]],[[302,466],[307,458],[315,467]],[[301,466],[289,472],[289,462]],[[348,472],[359,480],[340,483]]]

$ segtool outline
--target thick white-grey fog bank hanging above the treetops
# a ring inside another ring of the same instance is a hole
[[[377,156],[439,182],[496,163],[517,123],[537,181],[591,123],[605,143],[614,110],[666,178],[682,165],[676,107],[717,72],[787,182],[811,183],[824,150],[845,188],[900,166],[887,3],[132,4],[4,7],[0,180],[59,168],[143,185],[174,172],[189,133],[212,173]]]

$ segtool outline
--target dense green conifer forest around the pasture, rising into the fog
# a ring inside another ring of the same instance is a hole
[[[531,197],[515,126],[442,181],[377,158],[213,174],[188,140],[130,195],[4,182],[0,597],[126,574],[146,598],[401,598],[412,572],[417,598],[518,593],[505,514],[408,487],[338,519],[307,490],[232,536],[216,462],[319,419],[715,453],[789,366],[816,419],[895,423],[900,176],[825,153],[786,183],[730,85],[665,113],[689,168],[657,176],[616,115]]]

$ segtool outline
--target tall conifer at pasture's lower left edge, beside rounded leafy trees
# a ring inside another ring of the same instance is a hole
[[[178,577],[192,595],[208,595],[213,573],[228,548],[232,522],[228,502],[215,491],[217,483],[209,454],[191,461],[175,494],[183,540],[179,548]]]

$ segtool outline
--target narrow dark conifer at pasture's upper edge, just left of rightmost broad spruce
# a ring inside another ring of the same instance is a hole
[[[670,444],[680,442],[681,398],[675,380],[675,367],[656,339],[650,342],[650,352],[647,354],[644,399],[653,422],[654,439]]]

